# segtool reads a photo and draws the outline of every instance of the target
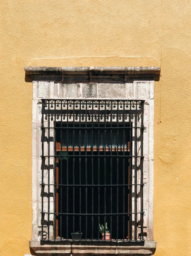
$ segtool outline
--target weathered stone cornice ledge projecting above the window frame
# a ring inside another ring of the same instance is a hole
[[[24,67],[34,81],[125,82],[154,80],[159,67]]]

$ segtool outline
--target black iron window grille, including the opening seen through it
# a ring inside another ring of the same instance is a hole
[[[110,240],[143,240],[143,110],[143,100],[42,99],[48,240],[105,240],[106,223]]]

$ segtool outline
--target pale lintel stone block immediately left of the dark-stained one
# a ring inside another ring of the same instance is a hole
[[[79,83],[60,83],[60,97],[77,98],[80,97]]]

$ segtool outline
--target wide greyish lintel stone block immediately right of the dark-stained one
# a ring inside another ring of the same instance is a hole
[[[125,83],[98,83],[99,98],[125,98]]]

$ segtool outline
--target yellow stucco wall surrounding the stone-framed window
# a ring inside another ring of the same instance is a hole
[[[32,83],[24,66],[159,66],[155,256],[191,255],[191,2],[1,0],[0,255],[30,253]]]

